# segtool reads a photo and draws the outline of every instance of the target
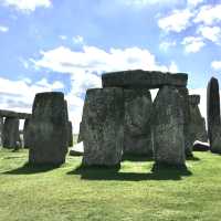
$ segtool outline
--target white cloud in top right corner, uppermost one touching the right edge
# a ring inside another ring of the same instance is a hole
[[[211,25],[221,21],[221,4],[217,6],[203,6],[200,8],[199,13],[193,20],[196,23],[202,22],[207,25]]]

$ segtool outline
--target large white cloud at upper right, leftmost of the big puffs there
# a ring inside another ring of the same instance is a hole
[[[193,13],[188,10],[173,10],[168,17],[160,18],[158,25],[167,32],[181,32],[190,25]]]

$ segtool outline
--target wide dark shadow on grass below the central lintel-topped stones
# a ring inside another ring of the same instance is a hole
[[[80,166],[67,175],[81,175],[85,180],[119,180],[119,181],[141,181],[141,180],[181,180],[185,176],[192,172],[186,167],[175,168],[171,166],[155,165],[151,172],[120,172],[119,167],[84,167]]]

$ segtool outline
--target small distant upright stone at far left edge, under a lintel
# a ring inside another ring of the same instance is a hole
[[[4,148],[17,148],[19,143],[19,119],[6,117],[2,129],[2,146]]]

